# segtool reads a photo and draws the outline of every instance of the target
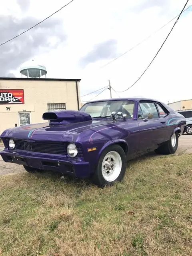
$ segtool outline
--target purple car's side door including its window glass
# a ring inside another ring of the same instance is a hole
[[[148,114],[150,118],[148,118]],[[139,150],[138,154],[157,148],[164,142],[165,124],[159,116],[155,102],[140,102],[138,108]]]

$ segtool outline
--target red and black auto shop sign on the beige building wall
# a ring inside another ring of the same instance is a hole
[[[0,104],[24,104],[24,91],[0,89]]]

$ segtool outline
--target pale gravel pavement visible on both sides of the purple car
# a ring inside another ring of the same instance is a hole
[[[0,151],[4,147],[0,145]],[[179,139],[179,147],[176,154],[192,153],[192,135],[182,135]],[[0,175],[25,172],[23,166],[18,164],[5,163],[0,156]]]

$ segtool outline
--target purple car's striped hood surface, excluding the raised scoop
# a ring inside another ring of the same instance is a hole
[[[100,126],[112,124],[112,120],[91,120],[72,124],[51,125],[49,123],[19,126],[5,130],[1,138],[16,138],[24,140],[75,141],[82,132],[91,133]]]

